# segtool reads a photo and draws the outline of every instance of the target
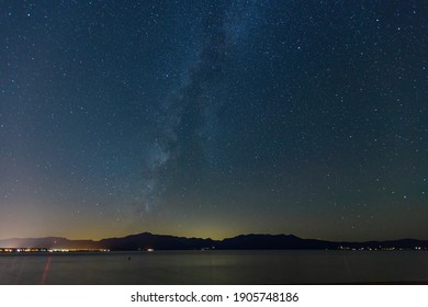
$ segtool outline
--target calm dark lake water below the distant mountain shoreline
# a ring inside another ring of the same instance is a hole
[[[0,284],[395,282],[428,283],[428,252],[155,251],[0,254]]]

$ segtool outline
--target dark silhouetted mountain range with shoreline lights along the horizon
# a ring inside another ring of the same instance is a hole
[[[334,242],[302,239],[293,235],[241,235],[224,240],[184,238],[143,232],[100,241],[69,240],[58,237],[0,240],[0,248],[110,249],[110,250],[319,250],[319,249],[428,249],[428,241],[402,239],[392,241]]]

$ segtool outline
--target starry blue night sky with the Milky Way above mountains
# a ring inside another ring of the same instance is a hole
[[[428,2],[0,2],[0,238],[428,239]]]

